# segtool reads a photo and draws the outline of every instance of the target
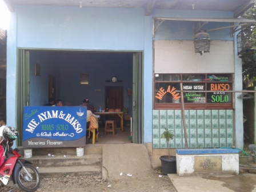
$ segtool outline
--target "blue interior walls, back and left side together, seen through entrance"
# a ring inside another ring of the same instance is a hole
[[[35,63],[41,66],[40,76],[35,75]],[[81,73],[89,74],[89,85],[80,84]],[[132,112],[127,96],[127,89],[133,87],[132,53],[30,51],[30,106],[47,103],[49,74],[57,79],[57,99],[63,103],[78,106],[87,97],[97,109],[104,108],[105,87],[123,86],[123,106]],[[114,76],[123,82],[106,82]]]

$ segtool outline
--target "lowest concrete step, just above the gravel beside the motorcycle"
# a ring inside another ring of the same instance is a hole
[[[38,167],[41,178],[58,178],[66,175],[81,176],[95,175],[101,173],[101,166],[86,165],[86,166],[63,166],[63,167]]]

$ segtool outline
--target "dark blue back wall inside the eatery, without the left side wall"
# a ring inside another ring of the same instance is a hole
[[[133,87],[133,54],[61,53],[59,56],[61,99],[64,102],[80,105],[83,99],[87,97],[91,105],[97,109],[99,106],[104,108],[105,87],[123,86],[123,106],[129,107],[129,97],[126,90]],[[81,73],[89,74],[89,85],[80,85]],[[114,76],[123,82],[106,82]]]

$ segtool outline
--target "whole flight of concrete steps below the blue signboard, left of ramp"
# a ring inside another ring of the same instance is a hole
[[[42,178],[102,173],[102,145],[99,144],[86,145],[82,157],[77,156],[77,147],[33,148],[31,158],[24,158],[23,147],[18,149],[23,159],[38,167]]]

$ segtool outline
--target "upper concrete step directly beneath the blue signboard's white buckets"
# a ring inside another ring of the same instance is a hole
[[[54,156],[52,156],[54,155]],[[23,158],[23,157],[22,157]],[[33,155],[31,158],[23,158],[33,163],[35,167],[61,167],[61,166],[83,166],[102,165],[102,154],[77,155]]]

